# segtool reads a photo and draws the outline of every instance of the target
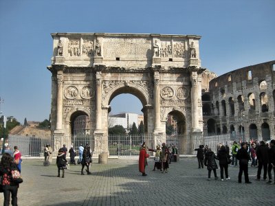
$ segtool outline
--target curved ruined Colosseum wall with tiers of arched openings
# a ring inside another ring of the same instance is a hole
[[[240,141],[274,139],[274,71],[275,60],[209,80],[209,91],[201,93],[204,135],[230,134]]]

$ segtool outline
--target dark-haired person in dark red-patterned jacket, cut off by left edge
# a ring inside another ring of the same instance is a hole
[[[10,205],[10,194],[12,194],[12,205],[17,205],[18,183],[12,181],[11,170],[17,170],[17,165],[13,162],[8,153],[4,153],[0,163],[0,176],[2,177],[1,185],[3,187],[4,203]]]

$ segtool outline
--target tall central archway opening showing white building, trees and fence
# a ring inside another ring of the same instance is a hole
[[[146,100],[139,91],[123,87],[109,100],[109,155],[137,155],[147,134]]]

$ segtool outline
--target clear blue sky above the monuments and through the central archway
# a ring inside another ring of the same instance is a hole
[[[201,66],[221,75],[275,59],[274,9],[274,0],[1,0],[1,111],[22,123],[49,117],[51,33],[197,34]],[[142,104],[118,95],[111,107],[141,113]]]

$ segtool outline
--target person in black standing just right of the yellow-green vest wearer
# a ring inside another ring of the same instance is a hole
[[[248,160],[250,159],[248,151],[246,150],[245,142],[241,143],[241,148],[236,153],[236,159],[239,159],[239,183],[241,183],[241,176],[245,175],[245,183],[252,183],[248,178]]]

